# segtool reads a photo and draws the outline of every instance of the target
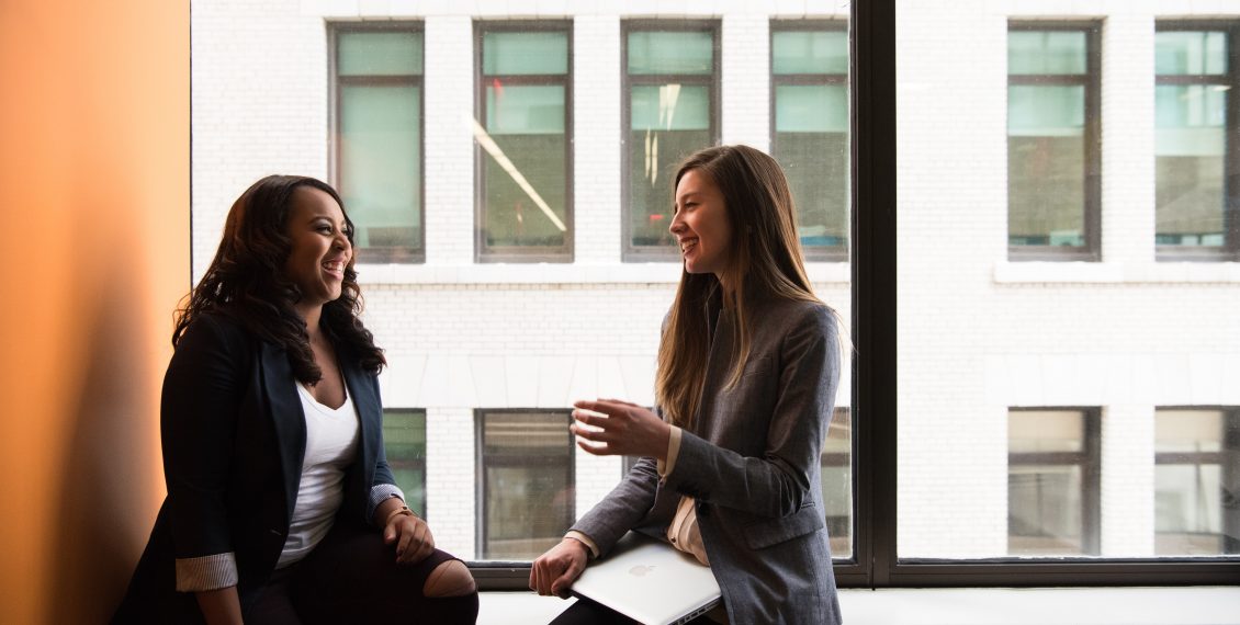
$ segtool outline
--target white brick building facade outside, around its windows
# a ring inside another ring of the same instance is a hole
[[[1154,408],[1240,404],[1240,264],[1154,260],[1153,25],[1240,19],[1240,4],[898,4],[900,554],[1003,554],[1008,408],[1089,406],[1102,554],[1148,556]],[[621,21],[720,20],[723,140],[769,149],[770,20],[846,14],[822,0],[195,1],[195,275],[250,182],[330,179],[325,24],[422,22],[425,263],[358,272],[391,365],[384,403],[427,410],[427,516],[443,548],[474,557],[476,408],[652,399],[680,268],[620,259]],[[476,264],[472,22],[536,17],[573,22],[574,262]],[[1102,20],[1097,263],[1007,260],[1006,36],[1027,17]],[[848,319],[848,265],[810,272]],[[839,406],[849,397],[846,375]],[[619,475],[619,460],[578,453],[577,512]]]

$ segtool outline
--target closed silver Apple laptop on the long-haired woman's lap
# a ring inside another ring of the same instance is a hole
[[[680,625],[719,604],[719,583],[693,556],[629,532],[585,568],[573,594],[646,625]]]

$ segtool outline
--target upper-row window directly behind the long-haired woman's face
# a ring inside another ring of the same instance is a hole
[[[717,22],[630,21],[624,62],[624,259],[675,260],[668,179],[719,140]]]

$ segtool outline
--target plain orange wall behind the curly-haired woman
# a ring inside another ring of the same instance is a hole
[[[102,623],[162,497],[190,6],[0,0],[0,623]]]

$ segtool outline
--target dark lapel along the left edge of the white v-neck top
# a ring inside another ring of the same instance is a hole
[[[262,355],[263,391],[270,406],[275,427],[275,443],[280,450],[280,470],[284,472],[284,499],[288,520],[298,500],[301,484],[301,463],[306,453],[306,420],[298,397],[298,381],[281,347],[263,341]]]

